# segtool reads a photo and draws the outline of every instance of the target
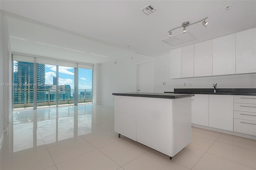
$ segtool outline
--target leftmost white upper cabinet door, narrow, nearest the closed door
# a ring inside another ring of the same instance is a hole
[[[181,48],[170,52],[170,79],[181,77]]]

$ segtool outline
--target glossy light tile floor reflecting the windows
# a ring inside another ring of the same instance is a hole
[[[256,140],[192,127],[172,160],[114,132],[114,108],[79,105],[14,111],[1,170],[255,170]]]

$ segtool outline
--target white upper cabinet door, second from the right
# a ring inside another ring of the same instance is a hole
[[[212,75],[236,74],[236,34],[213,39]]]

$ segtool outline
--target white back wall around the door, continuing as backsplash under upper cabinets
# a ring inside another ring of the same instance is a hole
[[[103,105],[114,105],[112,93],[136,92],[136,65],[154,59],[154,92],[173,91],[174,88],[256,88],[256,74],[227,75],[170,79],[170,53],[158,57],[134,55],[101,64],[100,100]],[[193,64],[193,63],[192,63]],[[162,85],[166,82],[166,85]],[[183,86],[192,83],[192,86]]]

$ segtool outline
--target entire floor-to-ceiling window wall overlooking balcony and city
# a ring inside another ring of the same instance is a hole
[[[20,53],[12,59],[13,109],[92,102],[92,65]]]

